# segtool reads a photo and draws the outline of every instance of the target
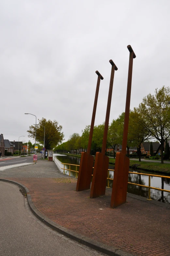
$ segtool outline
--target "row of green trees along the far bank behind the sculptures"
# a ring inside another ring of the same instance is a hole
[[[151,140],[160,142],[161,163],[163,163],[163,144],[170,137],[170,88],[162,87],[156,89],[155,94],[150,93],[143,98],[142,103],[130,111],[127,150],[136,146],[138,149],[139,161],[141,156],[141,143]],[[124,126],[124,113],[109,125],[107,136],[107,147],[113,148],[115,156],[115,147],[122,143]],[[74,133],[67,142],[57,146],[57,150],[75,150],[87,148],[90,125],[82,131],[82,136]],[[91,153],[101,152],[103,139],[104,123],[95,126],[92,139]]]

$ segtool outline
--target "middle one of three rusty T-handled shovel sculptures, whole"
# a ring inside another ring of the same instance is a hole
[[[108,126],[109,126],[110,107],[111,107],[111,101],[112,101],[113,80],[114,80],[115,70],[117,70],[117,67],[113,62],[113,60],[109,60],[109,62],[112,65],[112,71],[111,71],[111,77],[110,77],[110,87],[109,87],[109,95],[108,95],[108,101],[107,101],[103,143],[102,143],[101,153],[97,152],[95,157],[90,198],[95,198],[95,197],[105,195],[105,191],[106,191],[109,157],[105,155],[105,151],[106,151],[107,133],[108,133]]]

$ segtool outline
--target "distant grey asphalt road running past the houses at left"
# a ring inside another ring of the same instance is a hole
[[[37,155],[37,159],[41,158],[41,154]],[[2,160],[2,158],[1,158]],[[8,166],[8,165],[15,165],[15,164],[22,164],[22,163],[32,163],[33,162],[33,155],[32,156],[26,156],[26,157],[11,157],[10,160],[4,160],[0,161],[0,167],[2,166]]]

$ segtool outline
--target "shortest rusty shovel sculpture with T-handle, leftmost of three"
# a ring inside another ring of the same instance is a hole
[[[76,191],[90,189],[90,184],[91,184],[91,175],[93,172],[94,156],[90,155],[90,150],[91,150],[91,142],[92,142],[93,129],[94,129],[94,121],[96,116],[100,79],[103,80],[102,75],[98,71],[96,71],[96,74],[98,75],[98,80],[97,80],[96,94],[95,94],[95,100],[94,100],[94,106],[93,106],[93,114],[91,119],[90,134],[88,139],[88,147],[87,147],[87,152],[82,152],[82,155],[81,155]]]

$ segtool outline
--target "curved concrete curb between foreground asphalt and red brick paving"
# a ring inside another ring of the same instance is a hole
[[[50,227],[51,229],[57,231],[60,234],[63,234],[69,238],[71,238],[72,240],[77,241],[78,243],[81,243],[91,249],[94,249],[98,252],[104,253],[106,255],[111,255],[111,256],[135,256],[135,254],[130,254],[127,253],[125,251],[119,250],[116,247],[112,247],[112,246],[107,246],[103,243],[97,242],[92,240],[91,238],[88,238],[87,236],[83,236],[81,234],[78,234],[74,231],[71,231],[61,225],[58,225],[57,223],[55,223],[54,221],[48,219],[47,216],[45,216],[44,214],[42,214],[34,205],[32,199],[31,199],[31,195],[29,194],[30,191],[28,190],[28,188],[26,186],[24,186],[21,183],[15,182],[15,181],[11,181],[11,180],[6,180],[6,179],[1,179],[0,181],[3,182],[8,182],[14,185],[19,186],[20,188],[23,188],[25,190],[26,196],[27,196],[27,200],[28,200],[28,205],[31,209],[31,212],[43,223],[45,223],[48,227]]]

